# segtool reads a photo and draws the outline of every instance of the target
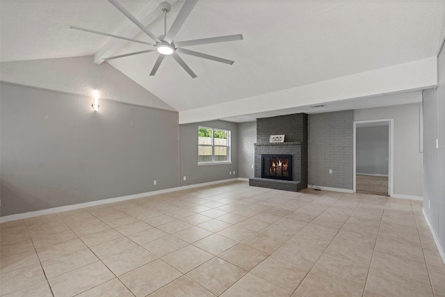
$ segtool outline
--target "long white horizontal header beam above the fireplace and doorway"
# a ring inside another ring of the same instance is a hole
[[[292,109],[339,100],[422,90],[435,85],[437,58],[431,57],[274,93],[179,111],[179,124],[264,113],[278,106],[279,109]]]

